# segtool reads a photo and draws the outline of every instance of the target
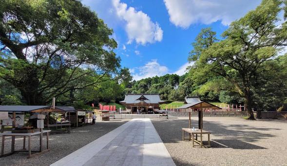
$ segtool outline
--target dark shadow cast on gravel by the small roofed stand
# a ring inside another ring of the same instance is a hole
[[[267,149],[265,147],[249,144],[240,140],[211,140],[211,148]]]

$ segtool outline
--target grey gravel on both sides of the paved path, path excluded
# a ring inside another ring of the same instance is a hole
[[[197,127],[197,118],[191,119],[191,126]],[[31,159],[26,158],[27,153],[15,153],[0,158],[0,166],[48,166],[127,121],[98,122],[72,129],[71,134],[52,134],[50,152]],[[211,132],[211,148],[192,147],[191,142],[182,141],[181,128],[188,126],[188,118],[152,122],[177,166],[287,166],[287,120],[204,117],[204,129]],[[35,150],[37,144],[32,145]],[[5,151],[10,145],[7,141]],[[22,139],[17,139],[16,148],[21,145]]]

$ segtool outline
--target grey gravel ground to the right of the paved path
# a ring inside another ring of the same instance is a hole
[[[287,120],[204,117],[211,148],[182,141],[181,128],[188,127],[188,118],[152,122],[177,166],[287,166]],[[191,124],[197,127],[197,118],[192,117]]]

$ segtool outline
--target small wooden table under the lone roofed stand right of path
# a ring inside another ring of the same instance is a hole
[[[193,131],[191,128],[182,128],[182,141],[184,141],[184,132],[189,133],[189,141],[192,140],[192,147],[194,146],[200,146],[200,147],[210,147],[210,132],[206,130],[200,130],[200,129],[195,129]],[[194,134],[195,134],[195,139],[194,139]],[[197,140],[197,135],[200,135],[200,141]],[[207,134],[208,135],[208,145],[203,145],[202,143],[202,135]],[[192,136],[192,139],[191,139]],[[199,145],[194,145],[194,142],[199,144]]]

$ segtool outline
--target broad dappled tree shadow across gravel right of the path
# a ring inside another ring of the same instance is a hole
[[[153,120],[153,125],[161,137],[164,143],[177,143],[182,140],[182,130],[181,128],[188,127],[188,120]],[[198,127],[198,121],[191,120],[191,127]],[[211,132],[210,139],[212,140],[212,135],[224,137],[226,143],[231,143],[232,140],[239,140],[242,144],[246,142],[256,142],[262,139],[267,139],[269,137],[275,137],[275,135],[261,132],[268,130],[280,130],[278,128],[267,128],[267,127],[255,127],[252,125],[226,125],[220,122],[210,122],[204,121],[203,128]],[[229,141],[231,140],[231,141]],[[248,144],[248,143],[245,143]],[[235,144],[236,145],[236,144]],[[237,144],[240,149],[240,144]],[[236,148],[235,146],[232,146]],[[254,147],[255,148],[255,147]],[[262,147],[264,148],[264,147]]]

